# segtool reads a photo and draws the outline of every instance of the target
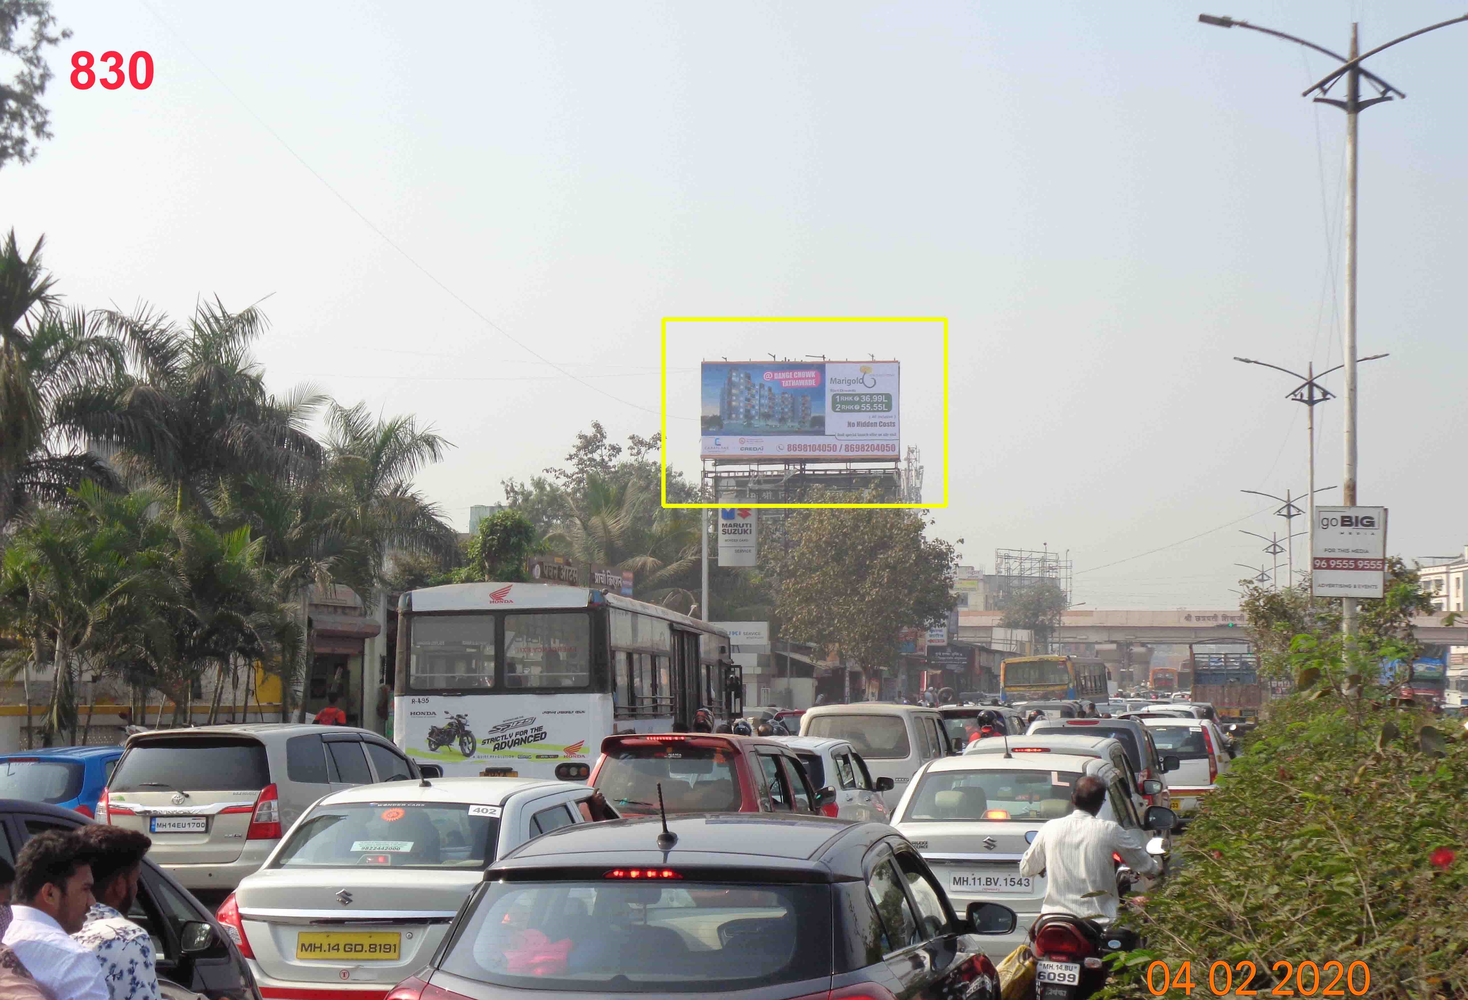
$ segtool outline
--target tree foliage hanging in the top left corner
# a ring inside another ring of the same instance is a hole
[[[43,50],[70,37],[70,29],[57,31],[50,0],[0,0],[0,51],[21,62],[13,79],[0,81],[0,167],[29,163],[40,141],[51,138],[51,116],[41,104],[51,68]]]

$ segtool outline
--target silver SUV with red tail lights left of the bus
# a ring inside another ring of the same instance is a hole
[[[148,856],[186,888],[230,890],[321,796],[418,777],[418,765],[383,737],[341,725],[137,733],[97,803],[97,822],[153,837]]]

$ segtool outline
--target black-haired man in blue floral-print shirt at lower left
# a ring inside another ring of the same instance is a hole
[[[142,856],[153,841],[122,827],[94,824],[76,833],[91,850],[97,903],[87,912],[87,927],[72,937],[97,956],[112,1000],[159,1000],[153,941],[125,916],[138,899]]]

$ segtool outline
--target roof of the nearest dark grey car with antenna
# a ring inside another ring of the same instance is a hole
[[[606,865],[659,865],[737,869],[784,877],[787,881],[849,881],[856,871],[835,871],[829,858],[847,843],[876,843],[893,836],[878,822],[826,816],[772,816],[747,812],[680,814],[668,816],[677,836],[669,850],[658,849],[658,816],[561,827],[517,847],[484,872],[486,880],[517,869],[603,868]]]

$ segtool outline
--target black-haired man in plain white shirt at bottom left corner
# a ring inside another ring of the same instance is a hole
[[[75,833],[40,833],[15,860],[4,944],[57,1000],[112,1000],[97,956],[70,937],[87,922],[91,888],[91,858]]]

